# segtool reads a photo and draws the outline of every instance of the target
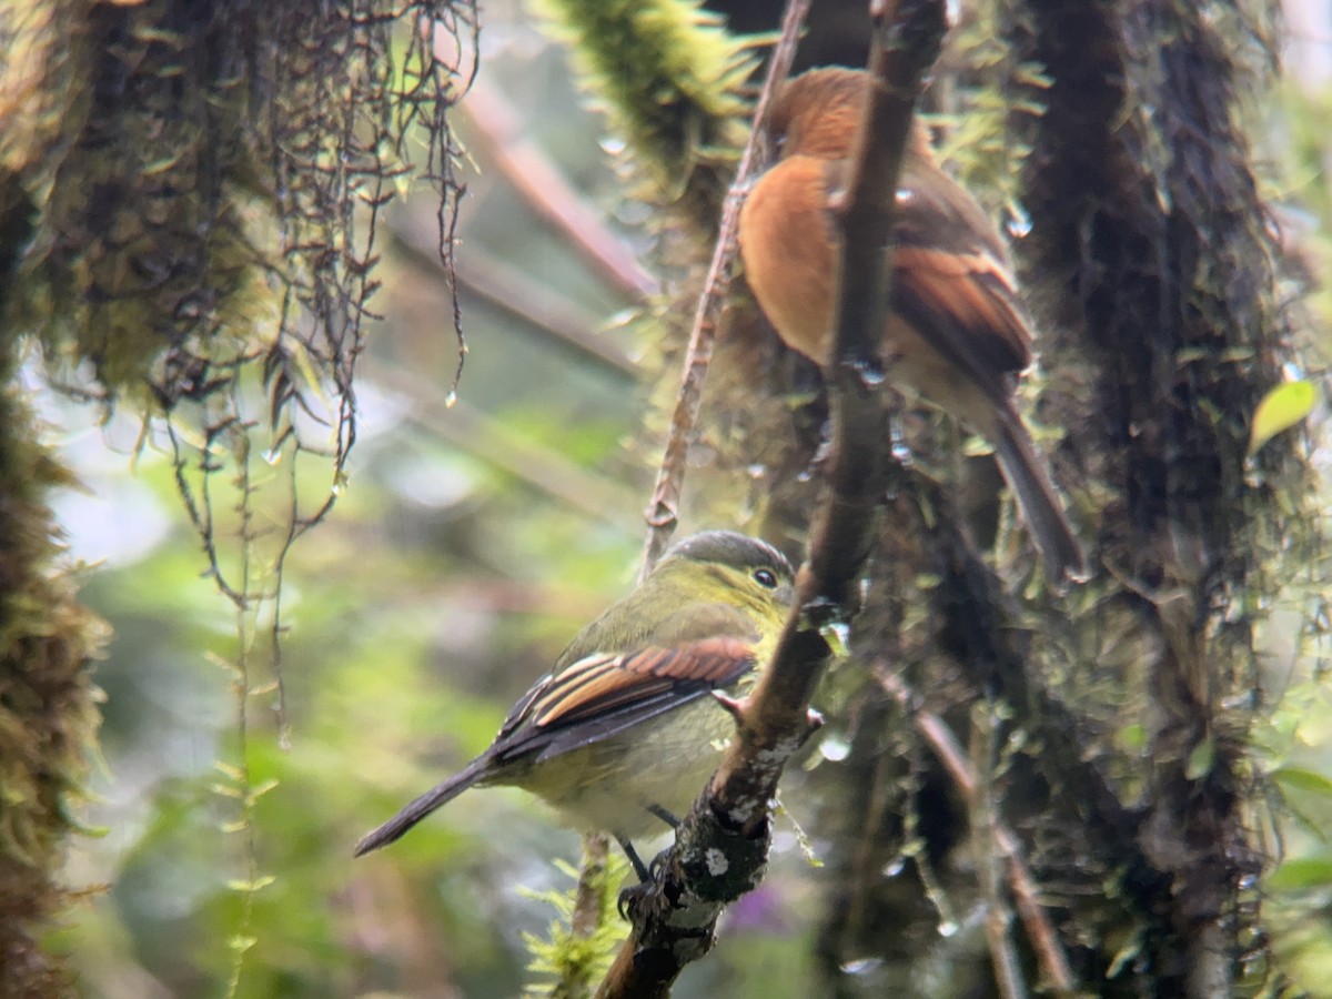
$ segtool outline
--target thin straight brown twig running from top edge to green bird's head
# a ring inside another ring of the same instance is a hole
[[[685,348],[685,368],[681,373],[679,393],[675,397],[675,410],[670,418],[666,450],[662,454],[661,470],[657,473],[657,485],[653,486],[651,501],[645,511],[647,541],[643,545],[643,565],[639,579],[647,577],[647,573],[657,565],[657,559],[666,551],[679,517],[679,497],[685,488],[685,462],[689,457],[689,444],[694,428],[698,425],[698,409],[703,401],[703,382],[707,378],[707,366],[713,361],[713,344],[717,341],[717,322],[722,316],[726,293],[731,286],[731,264],[735,260],[735,233],[739,229],[741,206],[745,204],[750,181],[757,173],[759,144],[763,141],[762,124],[767,120],[767,107],[773,100],[773,91],[791,71],[801,27],[805,24],[805,15],[809,9],[810,0],[787,0],[786,13],[782,17],[782,37],[773,49],[763,89],[758,97],[758,107],[754,108],[754,128],[750,131],[739,168],[735,170],[735,181],[726,193],[726,202],[722,205],[722,221],[717,230],[713,262],[707,268],[703,294],[698,300],[694,326],[689,334],[689,346]]]

